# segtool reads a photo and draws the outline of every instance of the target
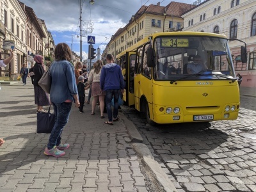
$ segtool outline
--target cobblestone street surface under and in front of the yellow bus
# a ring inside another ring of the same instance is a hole
[[[241,106],[255,109],[255,98]],[[143,143],[178,191],[256,191],[256,112],[241,108],[239,118],[152,127],[124,107]]]

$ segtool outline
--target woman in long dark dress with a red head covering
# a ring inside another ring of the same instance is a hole
[[[46,113],[43,106],[49,106],[49,97],[47,93],[38,85],[38,81],[44,74],[44,57],[40,54],[34,56],[34,61],[36,61],[33,72],[34,72],[34,91],[35,91],[35,104],[37,105],[37,112]]]

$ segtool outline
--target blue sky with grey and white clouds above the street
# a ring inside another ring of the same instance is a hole
[[[51,32],[55,45],[65,42],[72,51],[80,56],[80,21],[82,10],[82,55],[88,58],[88,35],[95,36],[94,48],[102,52],[112,35],[129,22],[142,5],[157,4],[166,6],[170,0],[20,0],[33,8],[36,17],[45,21]],[[195,0],[175,0],[180,3],[193,4]],[[92,31],[92,33],[91,33]]]

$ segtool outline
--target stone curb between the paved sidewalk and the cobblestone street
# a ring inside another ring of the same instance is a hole
[[[152,182],[152,185],[156,189],[156,192],[177,192],[177,189],[173,185],[172,181],[168,179],[166,173],[164,173],[161,166],[154,160],[147,145],[143,144],[143,138],[140,132],[138,132],[135,125],[127,119],[124,113],[119,113],[120,118],[124,121],[124,125],[131,137],[132,147],[140,157],[140,162],[145,167],[145,172]]]

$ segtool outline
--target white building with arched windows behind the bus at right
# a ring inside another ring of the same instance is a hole
[[[241,86],[256,87],[256,1],[255,0],[207,0],[182,14],[183,31],[220,33],[227,38],[237,38],[247,45],[248,60],[241,62],[243,42],[231,40],[236,73],[243,76]]]

